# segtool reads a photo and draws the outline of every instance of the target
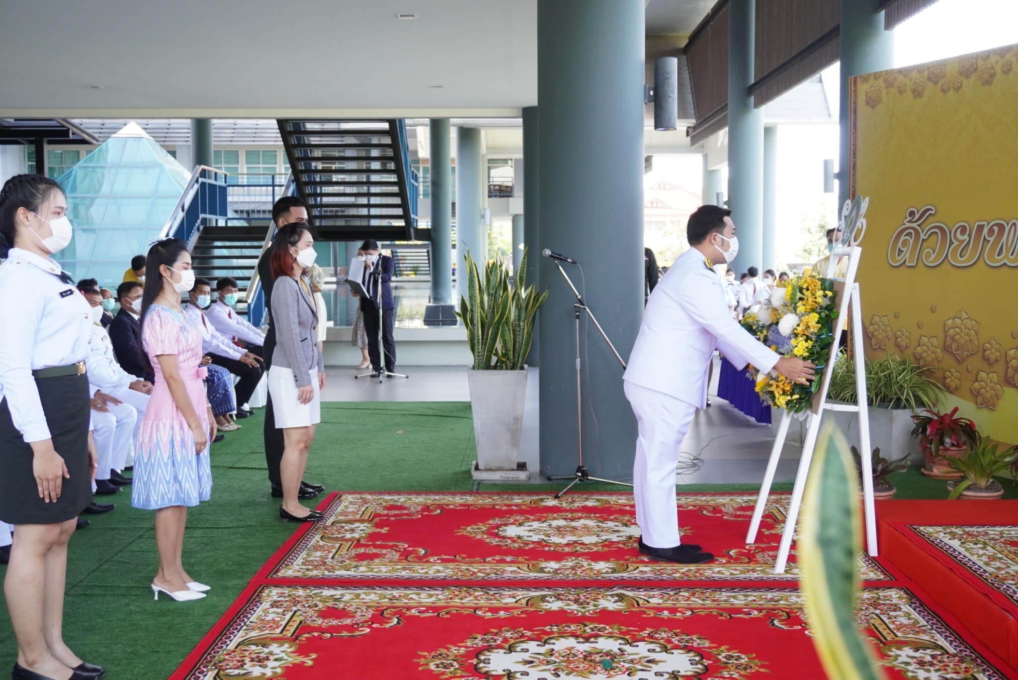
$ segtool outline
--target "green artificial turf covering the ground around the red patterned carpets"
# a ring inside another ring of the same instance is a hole
[[[329,490],[466,491],[473,487],[470,407],[463,403],[330,403],[312,448],[306,478]],[[212,453],[212,502],[191,510],[184,565],[214,586],[195,603],[154,601],[153,513],[130,507],[129,492],[103,496],[117,509],[87,516],[71,539],[64,637],[109,680],[166,678],[197,644],[248,579],[296,529],[278,519],[262,446],[262,415],[241,421]],[[911,470],[892,476],[899,499],[938,499],[945,483]],[[563,484],[484,484],[482,490],[554,491]],[[129,488],[129,487],[128,487]],[[582,490],[620,490],[582,484]],[[1005,498],[1018,498],[1011,483]],[[789,482],[775,490],[790,490]],[[685,491],[754,491],[753,484],[690,484]],[[0,572],[5,570],[0,567]],[[16,657],[6,606],[0,613],[0,668]]]

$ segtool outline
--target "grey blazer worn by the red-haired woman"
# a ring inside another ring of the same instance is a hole
[[[310,284],[306,276],[301,276],[307,290]],[[325,372],[322,353],[318,349],[318,315],[315,301],[304,293],[304,289],[290,276],[280,276],[272,287],[272,320],[276,327],[276,349],[272,353],[272,365],[293,371],[298,387],[306,387],[310,382],[310,370],[318,367]]]

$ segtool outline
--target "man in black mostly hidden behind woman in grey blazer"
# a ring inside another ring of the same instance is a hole
[[[276,201],[272,206],[272,221],[276,227],[289,224],[290,222],[307,221],[307,205],[296,196],[284,196]],[[265,293],[265,313],[269,323],[269,329],[265,333],[265,344],[262,346],[263,358],[265,359],[265,372],[268,373],[272,367],[272,353],[276,349],[276,327],[272,321],[272,247],[262,253],[258,261],[258,277],[262,283],[262,291]],[[276,414],[272,408],[272,395],[268,396],[265,405],[265,428],[263,430],[265,438],[265,462],[269,468],[269,483],[272,488],[272,498],[283,498],[282,478],[279,475],[279,464],[283,460],[283,430],[276,428]],[[300,491],[298,498],[301,500],[314,499],[325,490],[320,484],[312,484],[307,481],[300,481]]]

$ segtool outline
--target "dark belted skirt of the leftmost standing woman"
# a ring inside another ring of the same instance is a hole
[[[70,479],[60,498],[46,503],[32,470],[34,454],[14,427],[7,398],[0,402],[0,521],[55,524],[77,517],[92,502],[89,466],[89,376],[36,378],[53,448],[64,459]]]

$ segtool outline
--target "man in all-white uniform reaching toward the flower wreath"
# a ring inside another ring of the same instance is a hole
[[[625,393],[639,426],[633,464],[639,550],[657,560],[680,563],[714,559],[699,545],[679,539],[675,470],[679,450],[697,409],[706,404],[708,367],[715,350],[736,368],[751,363],[797,382],[813,375],[801,359],[781,358],[732,318],[715,262],[738,252],[731,211],[702,206],[689,217],[692,247],[658,283],[626,369]]]

